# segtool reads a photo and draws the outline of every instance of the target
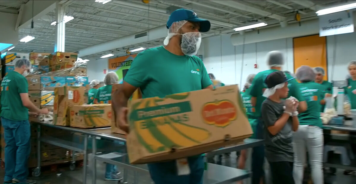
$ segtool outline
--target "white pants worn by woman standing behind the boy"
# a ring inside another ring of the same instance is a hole
[[[293,178],[295,184],[303,183],[306,153],[309,153],[312,179],[314,184],[324,183],[323,174],[323,130],[317,126],[299,125],[293,134],[294,167]]]

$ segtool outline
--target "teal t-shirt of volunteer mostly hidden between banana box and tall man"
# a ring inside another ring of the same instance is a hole
[[[256,109],[254,106],[252,106],[251,103],[250,89],[246,89],[245,91],[241,92],[241,96],[242,104],[244,105],[248,117],[248,122],[250,122],[253,131],[253,134],[250,138],[256,138],[255,132],[257,131],[258,120],[256,117]]]

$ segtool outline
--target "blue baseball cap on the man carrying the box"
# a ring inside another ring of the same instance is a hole
[[[181,20],[199,22],[200,32],[208,32],[210,30],[210,22],[208,20],[199,19],[198,15],[194,11],[187,9],[178,9],[173,11],[167,21],[167,28],[171,27],[173,22],[178,22]]]

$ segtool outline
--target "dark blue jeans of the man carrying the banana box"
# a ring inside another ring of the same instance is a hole
[[[148,164],[151,178],[155,184],[203,184],[204,157],[188,157],[189,175],[177,175],[176,161]]]

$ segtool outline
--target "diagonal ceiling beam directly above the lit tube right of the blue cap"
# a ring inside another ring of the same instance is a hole
[[[259,9],[252,5],[246,5],[239,1],[227,1],[227,0],[210,0],[210,1],[215,2],[216,4],[225,5],[225,6],[233,7],[233,8],[239,9],[239,10],[248,11],[248,12],[251,12],[254,14],[266,16],[266,17],[269,17],[272,19],[276,19],[278,21],[284,21],[287,19],[284,16],[276,15],[276,14],[273,14],[272,12]]]

